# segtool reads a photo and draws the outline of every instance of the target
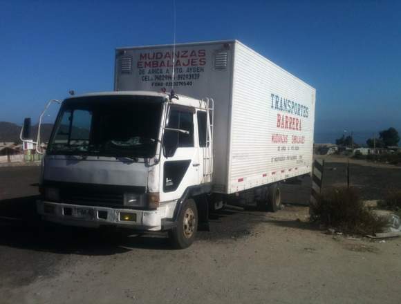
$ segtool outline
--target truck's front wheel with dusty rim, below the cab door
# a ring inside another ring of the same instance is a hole
[[[169,240],[175,249],[184,249],[194,243],[198,231],[198,209],[194,200],[183,202],[177,226],[169,231]]]

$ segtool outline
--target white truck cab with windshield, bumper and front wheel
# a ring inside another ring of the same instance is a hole
[[[149,91],[69,97],[42,160],[37,211],[66,225],[169,231],[191,245],[212,189],[209,99]]]

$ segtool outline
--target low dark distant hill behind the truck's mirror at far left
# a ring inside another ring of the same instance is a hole
[[[48,142],[50,133],[53,129],[53,124],[41,125],[41,142]],[[19,143],[19,133],[21,133],[21,126],[13,124],[12,122],[0,122],[0,142],[16,142]],[[37,124],[32,126],[32,140],[37,137]]]

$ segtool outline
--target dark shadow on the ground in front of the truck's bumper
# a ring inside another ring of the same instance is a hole
[[[166,238],[131,231],[88,229],[44,222],[37,215],[38,196],[0,200],[0,245],[55,254],[102,256],[132,249],[169,249]]]

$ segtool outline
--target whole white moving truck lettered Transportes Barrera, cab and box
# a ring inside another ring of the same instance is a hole
[[[45,220],[168,231],[184,248],[210,208],[277,211],[279,182],[312,169],[315,88],[239,41],[118,48],[114,86],[62,102]]]

